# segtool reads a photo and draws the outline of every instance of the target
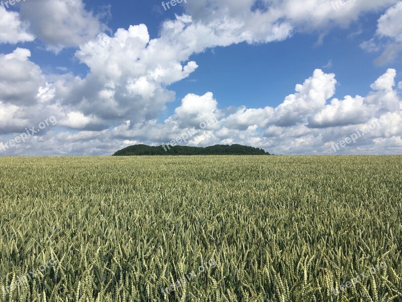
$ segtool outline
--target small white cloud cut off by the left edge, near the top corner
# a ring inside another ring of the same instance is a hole
[[[29,33],[29,23],[21,21],[20,14],[0,6],[0,44],[29,42],[35,37]]]

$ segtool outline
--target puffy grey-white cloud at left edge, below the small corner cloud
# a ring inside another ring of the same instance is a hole
[[[41,68],[29,60],[28,49],[0,54],[0,133],[25,132],[25,128],[62,111],[54,102],[55,88]],[[43,131],[46,132],[46,131]]]

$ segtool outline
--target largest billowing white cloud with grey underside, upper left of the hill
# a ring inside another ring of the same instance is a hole
[[[119,29],[112,37],[99,34],[76,52],[90,72],[84,79],[57,81],[57,98],[105,124],[156,119],[166,103],[174,100],[166,86],[197,68],[195,62],[182,63],[171,54],[173,47],[172,42],[151,40],[145,25]]]

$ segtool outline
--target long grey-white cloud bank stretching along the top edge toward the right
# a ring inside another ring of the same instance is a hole
[[[199,0],[188,2],[186,12],[195,24],[206,24],[225,43],[280,41],[294,32],[326,33],[346,27],[365,12],[377,11],[397,0],[348,2],[334,9],[331,1],[312,0]]]

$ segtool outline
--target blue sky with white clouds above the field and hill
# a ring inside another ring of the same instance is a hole
[[[0,156],[402,153],[402,1],[0,2]]]

